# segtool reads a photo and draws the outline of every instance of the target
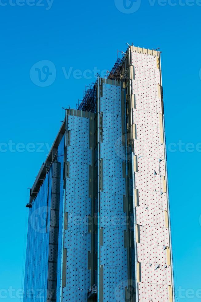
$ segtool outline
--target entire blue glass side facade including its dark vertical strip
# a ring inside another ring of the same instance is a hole
[[[56,296],[60,297],[63,170],[64,135],[55,161],[49,166],[29,209],[24,284],[26,302],[52,301]]]

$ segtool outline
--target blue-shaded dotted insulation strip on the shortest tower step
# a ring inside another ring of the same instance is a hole
[[[91,288],[88,270],[88,252],[91,251],[91,234],[88,217],[91,214],[89,198],[89,165],[92,151],[89,149],[89,118],[68,116],[70,144],[67,146],[69,177],[66,178],[65,212],[67,230],[64,234],[66,255],[66,286],[63,301],[87,301]]]

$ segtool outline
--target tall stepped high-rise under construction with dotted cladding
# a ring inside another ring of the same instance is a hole
[[[65,110],[27,207],[24,302],[174,301],[159,51],[129,46]]]

